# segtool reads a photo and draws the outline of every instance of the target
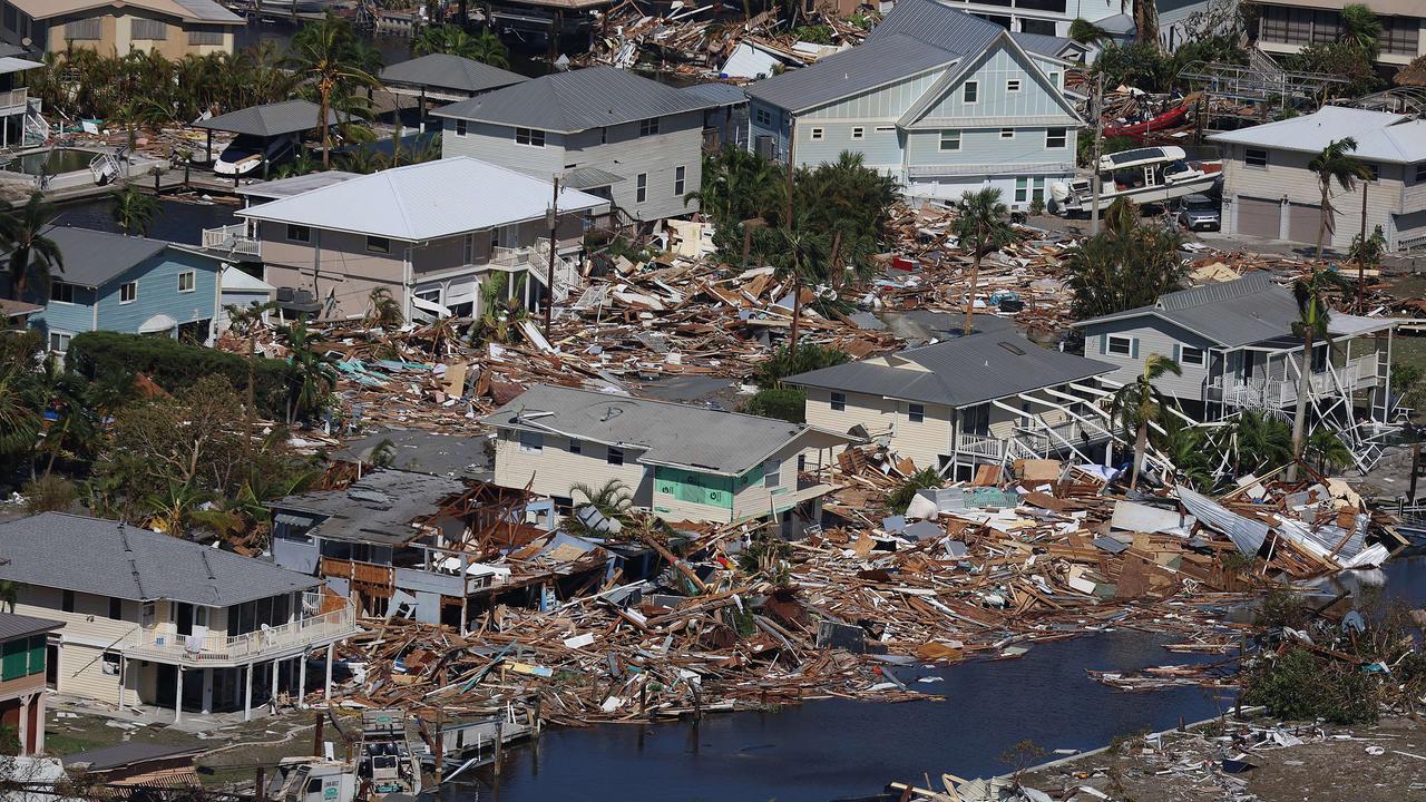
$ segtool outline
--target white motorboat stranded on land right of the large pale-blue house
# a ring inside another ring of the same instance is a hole
[[[1139,147],[1099,157],[1094,176],[1050,186],[1051,211],[1085,214],[1094,207],[1094,183],[1099,184],[1099,211],[1117,198],[1138,204],[1206,193],[1222,178],[1222,163],[1189,161],[1175,146]]]

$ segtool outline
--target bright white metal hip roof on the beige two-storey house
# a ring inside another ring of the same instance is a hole
[[[550,181],[466,156],[382,170],[238,211],[242,217],[408,243],[545,217]],[[609,201],[562,188],[559,211]]]

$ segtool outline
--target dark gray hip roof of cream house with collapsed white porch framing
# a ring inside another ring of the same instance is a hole
[[[784,378],[786,384],[884,398],[970,407],[1114,371],[1114,365],[1035,345],[1020,334],[977,331],[894,354],[923,370],[847,362]]]

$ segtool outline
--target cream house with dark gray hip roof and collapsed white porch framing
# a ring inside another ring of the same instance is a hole
[[[1112,371],[978,318],[970,337],[783,382],[806,388],[809,424],[884,441],[917,468],[970,478],[985,464],[1067,454],[1089,461],[1111,440],[1099,377]]]

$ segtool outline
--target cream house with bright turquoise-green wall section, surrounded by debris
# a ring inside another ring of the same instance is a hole
[[[851,442],[814,427],[568,387],[535,385],[485,418],[495,484],[548,497],[558,514],[616,481],[666,521],[776,518],[784,537],[820,519],[831,485],[801,478]],[[809,455],[811,457],[809,460]]]

